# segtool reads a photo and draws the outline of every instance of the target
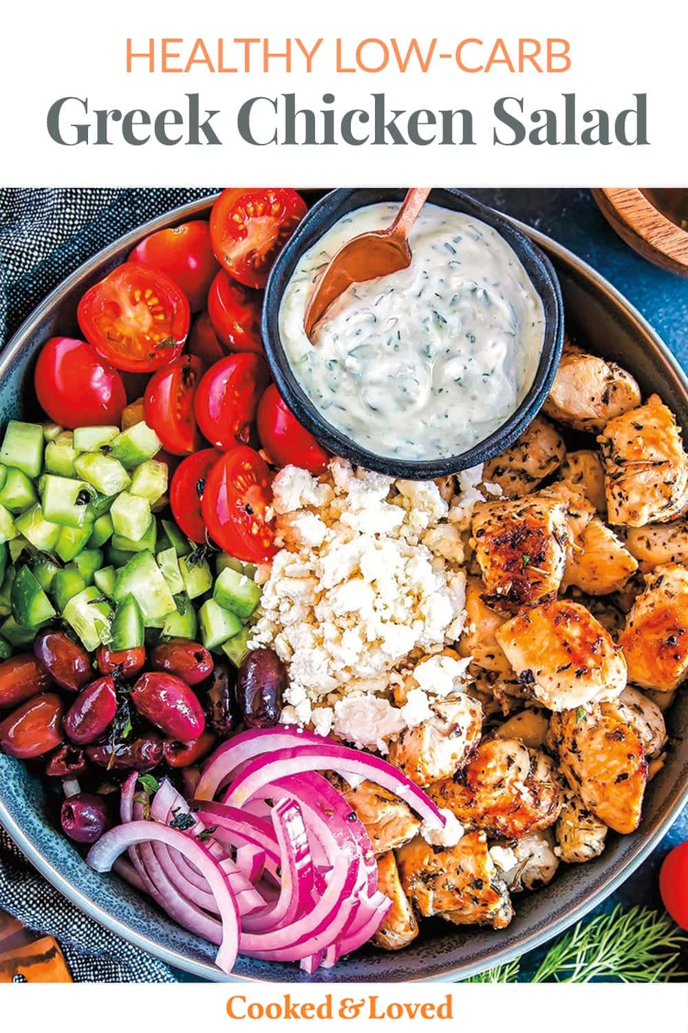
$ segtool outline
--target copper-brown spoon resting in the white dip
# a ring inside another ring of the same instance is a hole
[[[411,265],[408,233],[430,190],[431,187],[412,187],[391,226],[360,233],[339,248],[318,281],[305,310],[303,327],[312,343],[316,325],[352,283],[374,280]]]

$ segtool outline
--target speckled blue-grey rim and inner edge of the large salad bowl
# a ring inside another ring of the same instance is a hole
[[[14,357],[23,347],[29,346],[31,335],[48,318],[67,291],[77,287],[84,289],[121,261],[137,241],[153,230],[207,215],[212,199],[208,197],[195,201],[141,225],[71,274],[36,308],[3,350],[0,355],[0,382],[10,378]],[[670,386],[674,395],[681,396],[685,418],[688,414],[688,379],[644,316],[612,284],[566,248],[523,223],[515,221],[515,224],[549,251],[555,260],[569,268],[571,276],[581,278],[586,289],[591,289],[600,298],[607,294],[617,320],[629,326],[629,333],[647,339],[650,353],[654,352],[660,361],[659,365],[665,367],[663,371],[658,371],[663,372],[664,384]],[[18,392],[18,396],[20,394]],[[686,710],[685,706],[683,710]],[[685,716],[682,715],[684,721]],[[601,903],[642,864],[688,803],[688,740],[685,728],[682,733],[683,748],[677,747],[673,751],[667,764],[649,787],[648,795],[652,796],[653,808],[657,812],[652,824],[648,826],[649,819],[646,819],[637,833],[613,837],[605,853],[595,862],[582,867],[571,866],[550,886],[527,899],[520,898],[517,918],[509,929],[494,933],[471,927],[466,933],[452,928],[448,933],[447,926],[443,926],[441,943],[451,936],[455,947],[439,949],[437,953],[437,948],[433,950],[432,933],[430,942],[417,943],[399,954],[360,952],[345,959],[333,970],[321,970],[313,977],[304,976],[296,966],[256,963],[249,959],[240,959],[234,976],[228,977],[219,972],[211,963],[212,948],[209,945],[179,931],[117,877],[97,875],[89,870],[61,834],[45,822],[41,824],[43,792],[40,783],[28,775],[21,761],[2,756],[0,823],[38,871],[77,907],[129,942],[192,975],[230,982],[440,981],[465,978],[517,958],[561,934]],[[660,797],[658,804],[657,796]],[[74,873],[71,878],[70,870]],[[576,882],[572,887],[568,885],[570,878]],[[562,880],[566,880],[565,884]],[[123,910],[126,912],[124,916],[118,914]],[[160,931],[158,937],[156,927]],[[434,930],[437,928],[435,925]],[[182,945],[174,946],[179,941]],[[441,943],[437,945],[439,948]]]

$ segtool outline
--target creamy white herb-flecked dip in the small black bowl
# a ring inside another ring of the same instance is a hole
[[[411,231],[408,269],[350,287],[315,345],[303,330],[334,253],[388,226],[398,208],[358,209],[304,253],[282,300],[282,343],[310,401],[359,445],[399,459],[456,456],[516,411],[543,346],[542,301],[496,230],[426,205]]]

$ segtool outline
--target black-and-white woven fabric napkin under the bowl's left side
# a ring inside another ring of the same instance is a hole
[[[0,189],[0,347],[32,309],[87,258],[127,230],[206,189]],[[0,827],[0,907],[54,936],[76,981],[174,982],[162,962],[70,904]]]

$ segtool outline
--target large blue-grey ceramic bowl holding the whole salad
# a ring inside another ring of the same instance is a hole
[[[31,372],[42,342],[73,333],[76,304],[91,283],[122,261],[146,233],[207,216],[197,202],[162,216],[123,238],[69,277],[27,320],[0,355],[0,419],[36,411]],[[647,395],[656,390],[688,429],[688,381],[651,326],[609,283],[575,255],[535,230],[521,226],[545,251],[559,276],[568,320],[593,350],[616,359],[637,377]],[[507,961],[560,934],[619,885],[668,828],[688,802],[688,693],[667,714],[675,737],[666,764],[648,787],[641,827],[632,836],[611,835],[604,853],[587,865],[563,867],[549,886],[515,898],[517,915],[502,932],[459,929],[441,920],[424,924],[407,949],[365,949],[329,971],[305,976],[295,965],[239,959],[239,979],[274,981],[405,981],[458,979]],[[102,925],[163,961],[197,976],[222,980],[214,948],[186,933],[114,875],[98,875],[56,828],[41,781],[19,760],[0,756],[0,822],[30,860],[65,897]]]

